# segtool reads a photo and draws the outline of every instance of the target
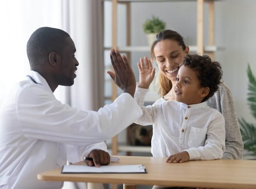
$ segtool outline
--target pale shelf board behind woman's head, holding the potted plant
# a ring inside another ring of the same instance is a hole
[[[111,47],[105,47],[105,50],[110,50]],[[120,52],[150,52],[150,46],[121,46],[117,48]],[[222,50],[223,48],[212,46],[205,46],[203,48],[204,52],[215,52],[217,50]],[[189,45],[189,50],[191,52],[197,52],[196,45]]]

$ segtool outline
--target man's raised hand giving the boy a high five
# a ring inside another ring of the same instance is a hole
[[[126,56],[121,56],[117,50],[111,49],[110,60],[114,68],[114,72],[108,71],[107,73],[114,80],[115,84],[123,90],[123,92],[128,92],[132,97],[134,97],[136,80]]]

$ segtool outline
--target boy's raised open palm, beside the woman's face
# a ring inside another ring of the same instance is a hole
[[[145,60],[145,63],[144,63]],[[155,68],[153,68],[152,63],[145,56],[140,58],[140,62],[137,63],[139,70],[139,87],[140,88],[149,88],[150,83],[154,79]]]

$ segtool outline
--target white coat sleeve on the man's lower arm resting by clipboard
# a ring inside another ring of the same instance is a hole
[[[87,156],[93,149],[101,149],[108,152],[105,142],[98,142],[87,146],[66,145],[66,149],[67,160],[70,163],[83,161],[84,157]]]

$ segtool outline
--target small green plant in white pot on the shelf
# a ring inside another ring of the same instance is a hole
[[[165,22],[152,15],[152,19],[147,19],[144,22],[143,30],[147,34],[148,44],[151,45],[154,42],[156,34],[165,30]]]

